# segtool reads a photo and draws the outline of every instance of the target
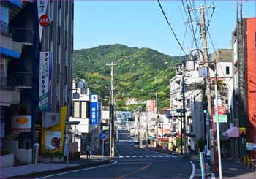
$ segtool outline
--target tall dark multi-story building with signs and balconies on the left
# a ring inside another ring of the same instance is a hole
[[[7,87],[1,90],[6,98],[1,99],[5,129],[1,146],[20,159],[23,152],[18,150],[26,149],[27,163],[35,143],[41,145],[42,153],[48,148],[62,151],[72,101],[74,3],[42,1],[37,6],[40,2],[1,1],[1,84]],[[45,15],[52,20],[49,26],[39,25],[37,7],[45,7]],[[60,146],[48,146],[53,135]]]

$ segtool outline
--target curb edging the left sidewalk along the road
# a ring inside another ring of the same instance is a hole
[[[43,175],[51,175],[51,174],[56,174],[58,172],[65,172],[67,170],[78,170],[82,168],[88,168],[88,167],[94,167],[94,166],[99,166],[103,164],[108,164],[109,161],[103,161],[100,163],[96,164],[78,164],[77,166],[72,166],[72,167],[64,167],[60,169],[55,169],[55,170],[47,170],[47,171],[42,171],[42,172],[33,172],[33,173],[28,173],[25,175],[16,175],[12,177],[7,177],[7,178],[39,178],[42,177]]]

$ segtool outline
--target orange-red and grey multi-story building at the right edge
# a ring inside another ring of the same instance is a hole
[[[233,47],[233,126],[240,128],[234,139],[236,159],[249,154],[256,158],[255,151],[248,151],[246,144],[256,143],[256,18],[240,18],[232,34]],[[251,148],[252,150],[252,148]]]

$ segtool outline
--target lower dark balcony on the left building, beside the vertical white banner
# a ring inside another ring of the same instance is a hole
[[[16,72],[11,75],[12,87],[18,89],[32,88],[32,73]]]

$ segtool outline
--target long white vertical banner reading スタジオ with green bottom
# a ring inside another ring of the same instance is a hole
[[[40,52],[39,110],[50,110],[51,52]]]

